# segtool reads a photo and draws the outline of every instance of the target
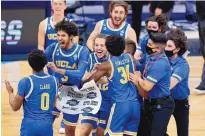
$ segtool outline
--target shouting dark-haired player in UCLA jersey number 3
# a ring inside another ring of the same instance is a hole
[[[51,44],[45,50],[46,56],[52,60],[48,64],[55,77],[63,85],[80,86],[81,79],[87,67],[89,50],[72,39],[78,33],[77,26],[70,21],[61,21],[55,26],[58,43]],[[65,133],[74,136],[78,115],[63,114]]]

